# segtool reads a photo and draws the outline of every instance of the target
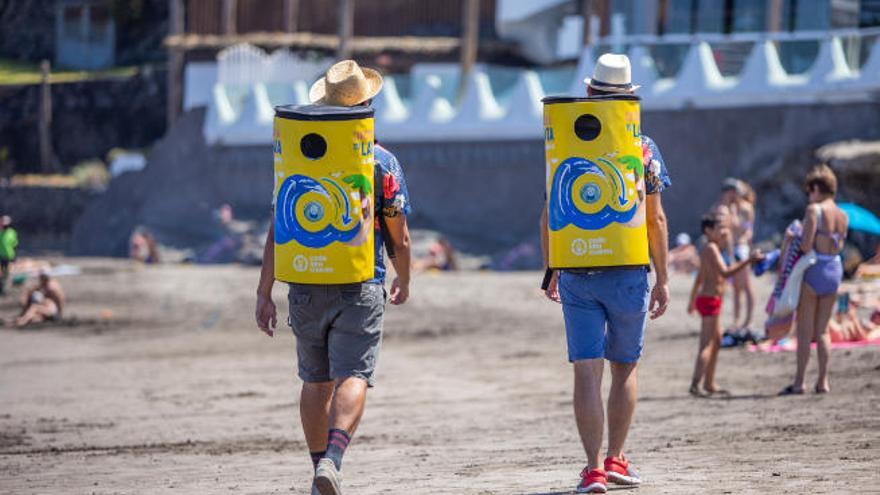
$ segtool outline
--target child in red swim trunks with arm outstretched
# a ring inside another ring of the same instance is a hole
[[[759,251],[755,251],[748,259],[727,266],[718,247],[728,235],[729,227],[726,222],[717,216],[707,216],[703,217],[700,227],[709,242],[700,251],[700,271],[697,279],[694,280],[688,305],[688,313],[693,314],[696,311],[703,320],[700,328],[700,351],[694,364],[694,377],[690,388],[690,393],[697,396],[702,395],[699,389],[700,381],[703,382],[703,390],[707,393],[721,392],[715,383],[715,365],[718,363],[718,349],[721,348],[719,315],[721,315],[721,298],[727,285],[725,281],[749,264],[763,258]]]

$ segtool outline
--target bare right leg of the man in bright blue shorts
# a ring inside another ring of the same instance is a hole
[[[611,363],[608,393],[608,456],[620,457],[636,410],[638,363]]]

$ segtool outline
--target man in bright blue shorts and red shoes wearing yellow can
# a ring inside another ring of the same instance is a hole
[[[578,493],[608,482],[638,485],[623,454],[636,406],[645,324],[666,311],[668,234],[660,193],[670,185],[660,151],[641,134],[638,88],[626,55],[599,57],[587,98],[544,100],[547,201],[541,240],[547,297],[562,303],[574,409],[587,466]],[[648,289],[648,265],[656,282]],[[650,296],[649,296],[650,294]],[[610,362],[608,450],[600,464]]]

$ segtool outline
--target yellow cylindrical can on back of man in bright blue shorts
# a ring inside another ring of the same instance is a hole
[[[543,102],[550,267],[648,265],[639,98]]]

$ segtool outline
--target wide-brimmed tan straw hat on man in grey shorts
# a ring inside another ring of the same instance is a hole
[[[361,68],[354,60],[343,60],[327,69],[309,90],[309,100],[320,105],[351,107],[376,96],[382,89],[382,76]]]

